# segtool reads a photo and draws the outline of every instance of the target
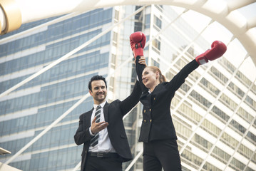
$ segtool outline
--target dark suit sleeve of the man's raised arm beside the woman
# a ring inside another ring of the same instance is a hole
[[[123,101],[120,102],[120,108],[123,115],[126,115],[140,100],[141,95],[140,83],[136,81],[133,92]]]

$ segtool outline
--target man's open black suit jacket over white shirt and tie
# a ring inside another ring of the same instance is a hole
[[[126,115],[139,101],[142,91],[139,82],[136,81],[133,92],[125,100],[115,100],[112,103],[106,103],[103,108],[105,121],[108,122],[108,136],[113,148],[121,156],[123,162],[132,160],[130,146],[126,137],[126,130],[123,125],[123,116]],[[81,170],[85,167],[86,155],[90,145],[91,135],[89,128],[91,126],[91,114],[93,109],[83,113],[79,117],[79,126],[74,135],[77,145],[83,144]]]

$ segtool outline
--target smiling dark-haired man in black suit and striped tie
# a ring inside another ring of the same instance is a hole
[[[93,109],[80,115],[74,135],[76,144],[83,144],[81,171],[121,171],[122,162],[132,160],[123,116],[139,101],[139,82],[136,81],[128,98],[112,103],[106,102],[107,83],[103,76],[93,76],[88,88]]]

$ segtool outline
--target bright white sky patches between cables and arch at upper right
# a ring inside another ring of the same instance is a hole
[[[256,1],[249,6],[242,7],[238,9],[238,11],[245,16],[246,19],[254,18],[256,19]],[[187,13],[183,14],[183,18],[190,23],[191,26],[195,28],[196,31],[200,32],[203,28],[205,28],[206,24],[211,20],[208,16],[200,14],[195,11],[188,11]],[[256,28],[252,28],[255,29]],[[210,24],[208,28],[202,33],[202,36],[208,40],[209,42],[213,42],[215,40],[222,41],[224,43],[228,43],[232,38],[232,33],[227,30],[221,24],[214,22]],[[256,47],[255,47],[256,49]],[[243,61],[247,54],[245,48],[243,48],[240,42],[235,39],[227,46],[227,51],[224,54],[225,58],[232,62],[234,66],[239,66],[240,63]],[[256,73],[256,64],[252,62],[251,58],[247,58],[245,62],[241,66],[241,71],[244,73],[251,81],[255,81],[255,74]]]

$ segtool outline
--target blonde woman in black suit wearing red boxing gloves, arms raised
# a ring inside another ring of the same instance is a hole
[[[136,70],[143,56],[145,35],[135,32],[130,35],[130,45],[136,61]],[[220,41],[212,44],[212,49],[197,56],[173,77],[166,82],[165,76],[155,66],[144,68],[140,80],[143,94],[140,102],[143,103],[143,122],[139,141],[143,142],[143,170],[145,171],[179,171],[181,170],[180,154],[178,152],[177,136],[170,115],[170,103],[175,91],[185,82],[185,78],[198,68],[199,65],[220,58],[226,51],[226,46]]]

